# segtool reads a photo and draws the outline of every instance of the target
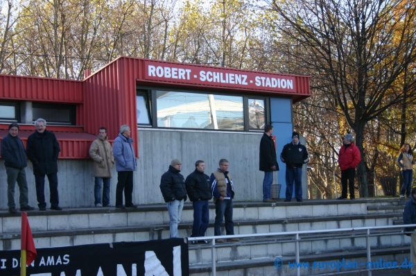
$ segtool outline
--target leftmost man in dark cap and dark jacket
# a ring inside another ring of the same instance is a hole
[[[15,186],[19,185],[19,203],[20,211],[31,211],[35,208],[28,205],[28,183],[26,182],[26,171],[28,166],[26,159],[26,150],[23,142],[17,135],[19,134],[19,125],[10,123],[8,135],[1,140],[1,157],[4,159],[7,173],[7,199],[10,213],[16,213],[15,205]]]

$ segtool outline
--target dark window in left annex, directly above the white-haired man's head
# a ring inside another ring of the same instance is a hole
[[[53,125],[76,124],[75,105],[56,105],[49,103],[32,104],[33,121],[39,118],[45,119],[46,123]]]

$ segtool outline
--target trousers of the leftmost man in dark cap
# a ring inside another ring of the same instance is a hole
[[[20,207],[26,207],[28,205],[28,183],[26,182],[26,171],[23,169],[15,169],[6,166],[7,173],[7,205],[8,207],[16,207],[15,205],[15,186],[16,182],[19,186],[20,196],[19,203]]]

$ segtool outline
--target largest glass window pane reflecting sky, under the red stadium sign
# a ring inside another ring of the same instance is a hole
[[[157,90],[157,126],[244,130],[243,97]]]

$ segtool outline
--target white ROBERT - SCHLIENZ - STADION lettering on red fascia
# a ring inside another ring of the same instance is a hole
[[[161,62],[162,63],[162,62]],[[147,80],[171,81],[192,85],[241,87],[265,91],[295,92],[295,77],[234,69],[216,69],[187,64],[145,63]]]

